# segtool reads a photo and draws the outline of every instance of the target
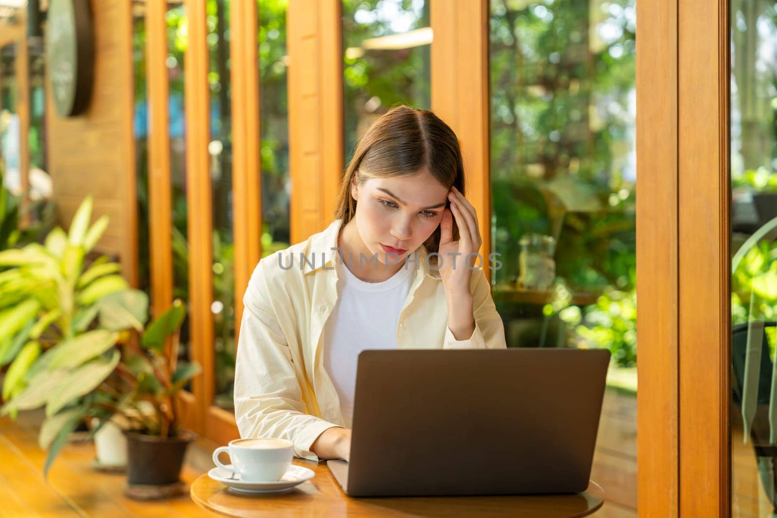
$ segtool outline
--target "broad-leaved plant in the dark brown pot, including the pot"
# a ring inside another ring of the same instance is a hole
[[[131,485],[178,481],[193,434],[181,429],[176,396],[200,373],[197,363],[176,365],[177,336],[186,315],[181,301],[144,328],[148,296],[121,290],[97,304],[99,328],[64,340],[34,358],[26,386],[0,415],[46,407],[40,447],[44,475],[78,422],[127,423],[127,479]],[[21,355],[20,355],[21,356]]]

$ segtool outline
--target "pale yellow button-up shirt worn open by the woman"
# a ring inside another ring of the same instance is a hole
[[[291,440],[310,451],[326,429],[343,426],[340,401],[322,357],[322,329],[337,304],[335,264],[342,220],[307,241],[262,259],[253,271],[240,326],[235,367],[235,419],[241,437]],[[448,329],[448,303],[439,273],[427,268],[421,245],[416,276],[399,313],[399,349],[504,348],[502,319],[483,269],[472,272],[475,332],[457,340]],[[290,267],[291,265],[291,267]]]

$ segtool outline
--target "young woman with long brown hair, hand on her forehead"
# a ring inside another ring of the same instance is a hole
[[[235,371],[240,436],[348,460],[362,350],[505,347],[480,245],[453,130],[395,107],[357,145],[329,228],[253,272]]]

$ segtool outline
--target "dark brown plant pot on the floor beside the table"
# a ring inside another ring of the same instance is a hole
[[[174,484],[179,480],[186,447],[194,434],[181,430],[175,437],[158,437],[137,432],[127,436],[127,483]]]

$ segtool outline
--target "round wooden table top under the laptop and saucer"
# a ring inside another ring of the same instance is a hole
[[[586,516],[605,492],[591,482],[577,495],[360,498],[346,495],[326,463],[294,459],[315,477],[277,495],[242,495],[201,475],[190,494],[198,505],[225,516]]]

